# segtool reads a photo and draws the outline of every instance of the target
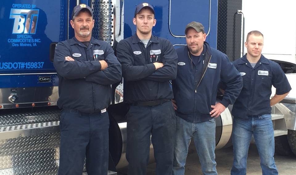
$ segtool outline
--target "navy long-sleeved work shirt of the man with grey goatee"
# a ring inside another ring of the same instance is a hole
[[[66,61],[65,56],[75,61]],[[105,60],[108,68],[101,70],[99,60]],[[93,37],[88,47],[75,37],[59,42],[55,47],[54,66],[59,77],[57,105],[63,109],[101,111],[111,102],[111,84],[121,80],[121,65],[113,49]]]

